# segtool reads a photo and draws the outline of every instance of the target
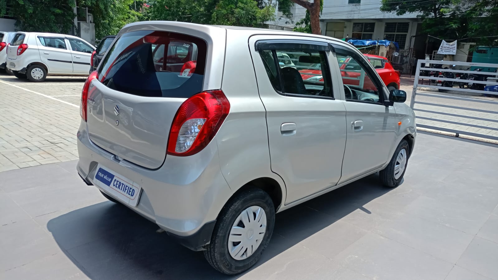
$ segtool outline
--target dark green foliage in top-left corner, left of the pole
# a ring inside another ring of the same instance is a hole
[[[68,33],[74,25],[74,0],[3,0],[0,16],[16,18],[22,31]],[[10,7],[5,14],[6,6]]]

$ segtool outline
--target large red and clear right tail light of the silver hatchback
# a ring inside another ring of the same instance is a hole
[[[187,99],[173,119],[167,153],[187,156],[202,150],[215,137],[229,111],[230,103],[221,90]]]

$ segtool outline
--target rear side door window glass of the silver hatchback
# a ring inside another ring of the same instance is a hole
[[[291,95],[333,97],[325,51],[263,50],[260,55],[275,90]]]

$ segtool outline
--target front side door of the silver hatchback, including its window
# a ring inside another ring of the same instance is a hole
[[[385,86],[372,65],[356,50],[334,44],[339,71],[340,62],[359,66],[353,77],[342,76],[346,102],[347,141],[339,183],[369,173],[381,167],[392,156],[389,154],[397,129],[395,111],[389,106]]]

